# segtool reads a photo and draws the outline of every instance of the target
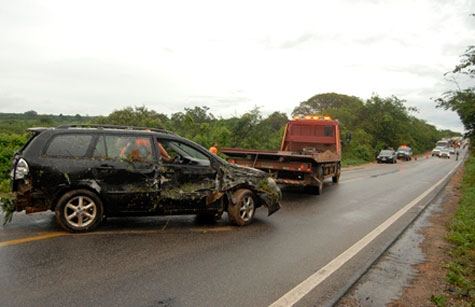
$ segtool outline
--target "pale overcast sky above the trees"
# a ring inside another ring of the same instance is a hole
[[[471,13],[473,0],[0,0],[0,112],[290,116],[336,92],[395,95],[463,131],[431,98],[474,44]]]

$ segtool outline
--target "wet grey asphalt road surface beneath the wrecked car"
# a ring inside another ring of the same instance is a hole
[[[2,306],[269,306],[447,175],[454,159],[343,171],[322,195],[284,189],[283,208],[247,227],[227,216],[110,218],[63,233],[50,212],[0,226]],[[331,305],[397,238],[429,193],[297,306]],[[45,235],[44,237],[38,237]],[[38,239],[15,241],[19,239]],[[3,244],[3,245],[2,245]]]

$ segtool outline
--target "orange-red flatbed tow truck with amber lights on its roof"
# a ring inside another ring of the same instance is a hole
[[[347,142],[351,134],[347,134]],[[279,151],[221,148],[228,161],[270,172],[280,184],[303,186],[321,194],[323,181],[338,183],[341,175],[341,136],[338,120],[300,115],[290,120]]]

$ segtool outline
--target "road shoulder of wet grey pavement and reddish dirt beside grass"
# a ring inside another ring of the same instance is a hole
[[[432,306],[431,296],[444,294],[457,305],[445,281],[449,242],[447,223],[458,208],[463,168],[418,220],[348,291],[337,306]]]

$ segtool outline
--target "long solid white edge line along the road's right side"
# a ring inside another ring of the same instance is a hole
[[[336,272],[339,268],[341,268],[346,262],[348,262],[353,256],[358,254],[363,248],[368,246],[375,238],[377,238],[381,233],[383,233],[386,229],[388,229],[394,222],[396,222],[401,216],[403,216],[406,212],[408,212],[412,207],[414,207],[418,202],[420,202],[424,197],[426,197],[429,193],[431,193],[436,187],[438,187],[441,183],[443,183],[460,165],[462,162],[459,161],[455,167],[442,179],[440,179],[436,184],[431,186],[428,190],[424,193],[416,197],[410,203],[405,205],[402,209],[396,212],[393,216],[388,218],[384,221],[381,225],[376,227],[373,231],[368,233],[365,237],[361,240],[356,242],[353,246],[348,248],[346,251],[341,253],[335,259],[330,261],[327,265],[322,267],[320,270],[316,271],[312,275],[310,275],[306,280],[302,281],[298,284],[295,288],[284,294],[281,298],[277,301],[272,303],[269,307],[280,307],[280,306],[293,306],[298,301],[300,301],[305,295],[310,293],[313,289],[315,289],[320,283],[322,283],[325,279],[327,279],[330,275]]]

